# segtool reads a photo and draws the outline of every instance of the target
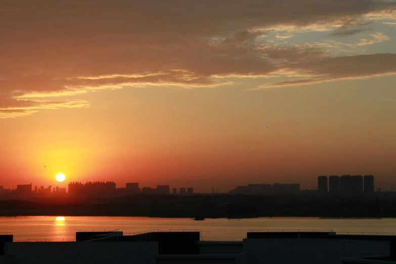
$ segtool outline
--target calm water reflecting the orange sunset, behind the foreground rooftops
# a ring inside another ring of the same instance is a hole
[[[396,235],[396,218],[328,219],[316,217],[272,217],[252,219],[205,219],[108,217],[108,216],[16,216],[0,217],[0,234],[14,240],[74,239],[75,231],[119,230],[136,233],[148,230],[199,230],[202,240],[242,240],[250,230],[333,230],[337,233],[381,233]]]

